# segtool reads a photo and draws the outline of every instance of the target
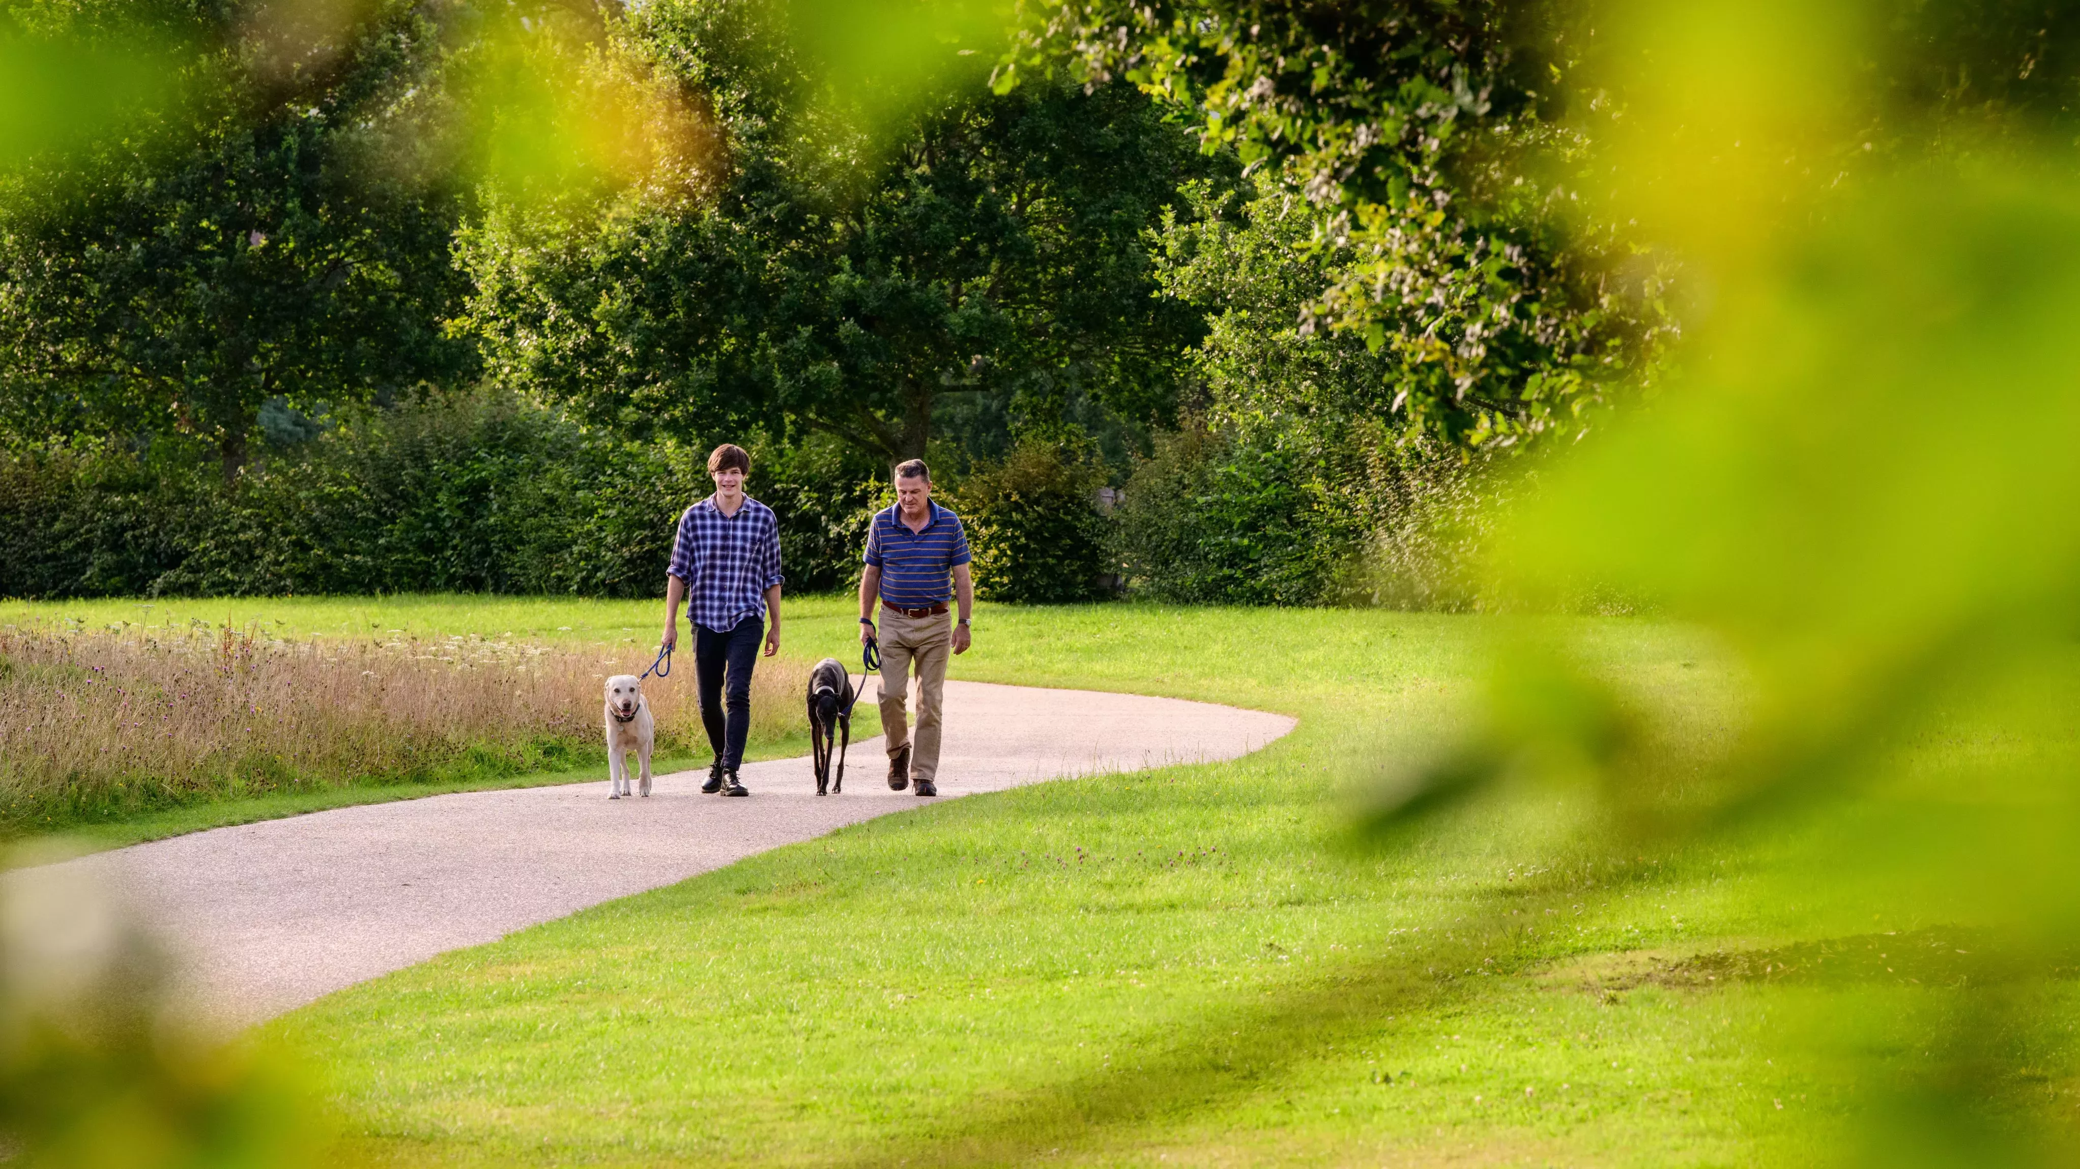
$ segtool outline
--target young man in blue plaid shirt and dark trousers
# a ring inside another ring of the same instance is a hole
[[[666,576],[664,647],[678,645],[678,603],[691,599],[693,674],[701,689],[701,726],[716,761],[703,793],[751,795],[736,782],[751,730],[751,670],[765,634],[765,657],[780,651],[780,524],[772,508],[745,495],[751,456],[722,443],[707,456],[716,493],[678,518]],[[772,626],[765,618],[772,616]],[[728,713],[724,713],[728,711]]]

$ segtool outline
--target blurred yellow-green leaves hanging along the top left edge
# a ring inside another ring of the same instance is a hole
[[[688,6],[688,4],[678,4]],[[730,8],[740,4],[703,4]],[[776,8],[828,148],[980,87],[1007,10],[982,0]],[[726,156],[709,94],[630,48],[653,4],[616,0],[6,0],[0,173],[46,179],[179,148],[223,119],[352,112],[381,146],[364,181],[699,187]],[[872,156],[867,156],[872,158]]]

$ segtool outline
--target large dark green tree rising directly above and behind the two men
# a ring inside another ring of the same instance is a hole
[[[1077,385],[1163,414],[1196,314],[1144,233],[1208,171],[1127,85],[973,85],[878,154],[745,4],[653,4],[630,35],[707,94],[711,198],[510,206],[466,239],[472,322],[516,385],[630,431],[809,428],[926,453],[946,395]]]

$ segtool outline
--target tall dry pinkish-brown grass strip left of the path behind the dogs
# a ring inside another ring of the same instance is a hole
[[[343,784],[453,782],[605,759],[605,647],[281,641],[0,628],[0,828]],[[807,668],[761,661],[753,745],[805,730]],[[705,753],[691,653],[645,693],[659,751]]]

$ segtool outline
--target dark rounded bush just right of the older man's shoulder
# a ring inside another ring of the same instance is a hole
[[[1028,605],[1104,595],[1100,472],[1073,441],[1021,439],[953,491],[976,555],[976,595]]]

